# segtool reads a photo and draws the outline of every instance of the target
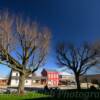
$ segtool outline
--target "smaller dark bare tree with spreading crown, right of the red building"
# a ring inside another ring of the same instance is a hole
[[[80,89],[79,78],[98,63],[99,49],[88,43],[84,43],[80,48],[75,47],[73,44],[59,43],[56,51],[58,64],[73,71],[77,89]]]

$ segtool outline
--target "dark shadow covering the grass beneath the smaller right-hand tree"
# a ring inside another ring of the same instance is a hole
[[[48,92],[38,91],[40,94],[51,94],[49,97],[37,97],[24,100],[100,100],[100,90],[53,90]]]

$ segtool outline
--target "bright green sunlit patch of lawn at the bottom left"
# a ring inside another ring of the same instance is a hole
[[[51,99],[49,95],[39,93],[27,93],[25,95],[0,94],[0,100],[47,100],[47,98]]]

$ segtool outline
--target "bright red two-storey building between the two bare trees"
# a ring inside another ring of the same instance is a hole
[[[58,86],[59,83],[59,72],[55,70],[43,69],[41,72],[43,77],[47,77],[47,84],[51,86]]]

